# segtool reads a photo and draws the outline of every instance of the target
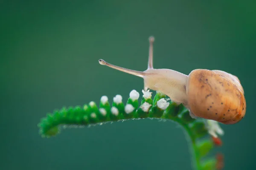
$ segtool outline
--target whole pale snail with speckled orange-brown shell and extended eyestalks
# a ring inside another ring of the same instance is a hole
[[[235,124],[244,118],[246,102],[238,77],[220,70],[195,69],[189,75],[171,69],[153,68],[153,42],[149,37],[148,68],[134,71],[99,59],[101,65],[144,79],[144,91],[166,94],[172,102],[183,104],[194,119],[204,118],[222,124]]]

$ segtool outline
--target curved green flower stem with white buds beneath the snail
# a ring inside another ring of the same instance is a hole
[[[97,125],[104,122],[113,122],[125,119],[169,119],[177,122],[183,127],[189,136],[193,153],[195,170],[214,170],[215,160],[201,162],[202,156],[206,156],[212,149],[212,141],[203,141],[205,145],[200,145],[196,141],[208,134],[204,123],[198,119],[193,119],[189,111],[182,105],[175,102],[166,102],[166,95],[158,93],[151,99],[151,92],[144,92],[141,105],[139,106],[137,91],[131,91],[126,104],[122,102],[122,96],[114,97],[112,106],[108,102],[107,96],[102,96],[99,108],[95,102],[83,107],[62,108],[60,111],[47,114],[38,124],[42,137],[55,136],[60,132],[59,125]]]

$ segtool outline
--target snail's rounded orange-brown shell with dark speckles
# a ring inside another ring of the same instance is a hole
[[[244,118],[244,90],[232,74],[195,69],[187,79],[186,94],[189,110],[195,116],[223,124],[235,124]]]

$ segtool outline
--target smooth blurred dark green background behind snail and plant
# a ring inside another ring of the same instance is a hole
[[[225,131],[224,170],[254,170],[255,1],[84,0],[0,2],[1,170],[190,170],[183,130],[138,120],[66,129],[42,139],[37,124],[62,106],[126,101],[143,79],[99,65],[144,71],[148,37],[154,67],[189,74],[219,69],[239,77],[245,118]]]

